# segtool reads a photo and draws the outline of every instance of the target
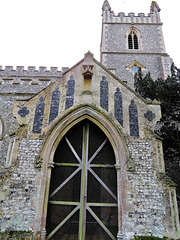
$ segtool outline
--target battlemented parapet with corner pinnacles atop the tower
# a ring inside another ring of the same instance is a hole
[[[134,12],[130,12],[128,15],[125,15],[124,12],[119,12],[116,15],[114,11],[111,10],[107,0],[105,0],[102,10],[104,23],[162,24],[159,14],[160,8],[155,1],[152,2],[150,13],[147,15],[145,13],[138,13],[138,15],[135,15]]]

